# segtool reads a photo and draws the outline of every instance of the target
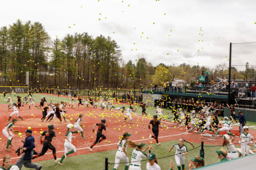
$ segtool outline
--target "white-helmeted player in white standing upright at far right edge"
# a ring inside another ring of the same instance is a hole
[[[250,145],[247,145],[247,143],[251,144],[251,141],[253,137],[251,136],[250,133],[248,133],[248,126],[243,126],[243,133],[240,134],[239,136],[239,143],[241,143],[241,155],[249,155],[250,151]]]

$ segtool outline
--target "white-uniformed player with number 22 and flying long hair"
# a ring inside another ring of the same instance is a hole
[[[147,158],[149,153],[151,153],[151,149],[153,145],[146,147],[143,150],[143,147],[145,143],[139,142],[135,143],[134,141],[127,141],[127,145],[132,148],[136,148],[133,150],[133,153],[131,154],[131,165],[129,167],[129,170],[141,170],[141,161],[143,157]],[[149,149],[148,155],[145,153]]]

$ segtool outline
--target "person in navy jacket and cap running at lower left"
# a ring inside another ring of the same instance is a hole
[[[31,162],[31,158],[34,153],[33,149],[35,148],[35,137],[33,137],[31,129],[27,129],[25,133],[26,133],[25,141],[21,140],[21,143],[24,143],[22,148],[24,151],[24,154],[22,155],[21,158],[19,158],[19,160],[15,163],[15,165],[17,165],[19,169],[21,169],[22,165],[24,165],[24,167],[39,170],[42,168],[42,166],[38,165],[37,163]]]

